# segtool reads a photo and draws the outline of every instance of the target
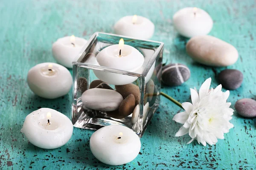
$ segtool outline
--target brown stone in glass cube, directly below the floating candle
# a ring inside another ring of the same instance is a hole
[[[116,91],[119,92],[123,98],[127,97],[130,94],[133,94],[135,97],[135,104],[140,103],[140,88],[134,84],[128,85],[115,85]]]

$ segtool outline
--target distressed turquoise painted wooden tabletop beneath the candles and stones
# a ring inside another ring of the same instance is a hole
[[[161,105],[141,139],[140,154],[122,166],[99,162],[89,147],[92,130],[74,128],[64,146],[44,150],[30,144],[20,133],[25,117],[38,108],[53,108],[71,118],[72,93],[47,100],[35,96],[26,83],[30,68],[41,62],[55,62],[52,43],[74,34],[88,39],[94,32],[113,33],[113,25],[125,15],[142,15],[155,24],[152,40],[165,43],[164,62],[187,65],[190,79],[162,91],[180,102],[190,101],[189,88],[199,88],[208,77],[225,68],[195,63],[185,51],[187,39],[178,36],[172,24],[180,8],[196,6],[214,20],[210,35],[230,42],[239,60],[228,68],[244,74],[241,87],[230,92],[231,108],[241,98],[256,99],[256,2],[254,0],[2,0],[0,2],[0,169],[255,169],[256,120],[234,112],[234,128],[214,146],[186,144],[189,136],[175,137],[180,124],[172,121],[181,109],[161,97]],[[70,70],[72,73],[72,70]]]

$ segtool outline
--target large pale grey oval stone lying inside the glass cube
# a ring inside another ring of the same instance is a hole
[[[81,96],[84,107],[96,111],[114,111],[118,109],[123,97],[116,91],[102,88],[92,88]]]

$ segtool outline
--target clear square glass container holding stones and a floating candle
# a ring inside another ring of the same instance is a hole
[[[118,44],[121,38],[124,39],[125,45],[131,45],[143,54],[144,63],[139,71],[130,72],[103,67],[97,62],[97,54],[110,45]],[[94,33],[73,61],[73,125],[92,130],[107,125],[125,125],[142,137],[160,103],[162,59],[163,42],[137,40],[101,32]],[[102,79],[111,75],[113,79],[125,78],[131,79],[132,82],[119,86],[110,83],[99,84],[100,81],[97,79],[101,74]],[[98,84],[99,86],[95,87]],[[90,91],[88,91],[89,88]],[[119,106],[115,111],[106,111],[108,109],[104,110],[105,105],[108,105],[108,102],[112,105],[111,101],[115,99],[112,100],[111,95],[106,97],[102,90],[91,90],[92,88],[103,88],[104,92],[110,91],[104,88],[113,88],[111,94],[118,92],[123,100],[121,99],[121,104],[117,104]],[[95,91],[100,91],[100,94],[96,94]],[[130,99],[133,98],[132,95],[126,99],[129,94],[133,94],[138,100],[134,103],[134,99]],[[83,104],[82,95],[90,101]]]

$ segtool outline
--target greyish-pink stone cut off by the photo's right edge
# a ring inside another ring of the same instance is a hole
[[[243,117],[256,117],[256,101],[253,99],[240,99],[236,101],[235,108],[237,113]]]

